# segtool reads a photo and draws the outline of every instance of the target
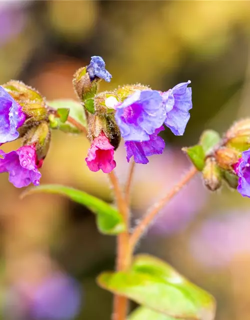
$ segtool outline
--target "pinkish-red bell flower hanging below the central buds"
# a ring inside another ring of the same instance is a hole
[[[91,171],[101,169],[104,173],[109,173],[115,168],[116,163],[113,159],[114,147],[110,144],[108,138],[101,133],[93,139],[88,149],[85,161]]]

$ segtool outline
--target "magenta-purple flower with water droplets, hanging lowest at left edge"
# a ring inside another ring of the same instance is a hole
[[[9,173],[9,182],[21,188],[29,183],[39,184],[41,173],[37,170],[34,145],[23,145],[16,151],[5,153],[0,150],[0,173]]]

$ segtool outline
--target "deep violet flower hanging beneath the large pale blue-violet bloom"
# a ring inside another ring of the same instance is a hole
[[[127,162],[129,162],[130,157],[133,155],[134,162],[146,164],[148,163],[147,156],[161,154],[163,152],[165,142],[157,134],[162,130],[164,130],[163,126],[156,129],[153,134],[150,134],[148,141],[125,141],[124,146],[127,154]]]

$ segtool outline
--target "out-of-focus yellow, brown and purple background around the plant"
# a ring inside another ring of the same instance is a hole
[[[75,98],[72,74],[101,55],[110,84],[167,90],[192,81],[184,136],[165,130],[166,149],[137,165],[134,223],[188,168],[180,147],[202,130],[222,133],[250,115],[250,2],[1,0],[0,83],[19,79],[47,99]],[[18,147],[18,141],[4,150]],[[53,132],[41,183],[61,183],[112,200],[106,176],[84,162],[84,136]],[[117,174],[125,180],[121,146]],[[143,185],[143,187],[141,187]],[[110,319],[111,294],[95,276],[114,265],[115,239],[98,234],[86,208],[55,195],[23,200],[0,175],[0,304],[7,320]],[[250,200],[190,182],[141,240],[138,252],[171,263],[217,300],[216,320],[250,318]]]

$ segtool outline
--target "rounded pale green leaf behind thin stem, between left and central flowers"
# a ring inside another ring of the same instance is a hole
[[[70,99],[56,99],[48,101],[47,104],[56,110],[65,108],[69,109],[68,115],[77,123],[81,124],[84,127],[87,127],[85,111],[83,106],[79,102]],[[57,119],[57,126],[59,129],[65,132],[80,132],[79,129],[77,129],[72,123],[69,123],[68,121],[65,121],[65,123],[63,123],[61,119]]]

